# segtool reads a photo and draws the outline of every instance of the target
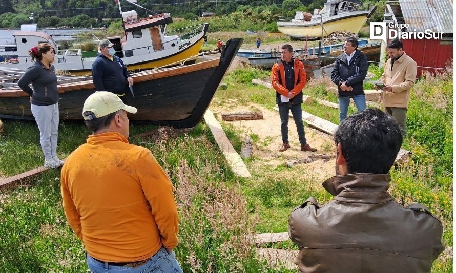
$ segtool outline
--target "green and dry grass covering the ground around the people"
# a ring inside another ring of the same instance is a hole
[[[224,80],[228,88],[217,92],[214,105],[228,109],[236,103],[254,103],[272,109],[274,92],[250,83],[252,78],[268,75],[268,71],[251,68],[230,72]],[[409,137],[404,142],[404,148],[414,154],[408,165],[391,171],[390,189],[398,202],[423,203],[442,219],[446,246],[452,246],[450,76],[427,75],[414,87]],[[334,101],[334,94],[325,92],[325,84],[310,82],[304,93]],[[318,104],[304,110],[325,119],[329,115],[335,123],[338,120],[337,111]],[[3,121],[7,135],[0,136],[0,176],[42,166],[36,124]],[[244,132],[223,126],[239,150]],[[289,212],[308,196],[323,202],[330,199],[321,186],[314,186],[322,181],[308,177],[298,183],[293,171],[283,165],[253,167],[259,160],[255,157],[244,161],[253,178],[238,178],[204,123],[160,139],[134,137],[152,129],[132,124],[130,142],[150,149],[176,187],[180,243],[175,251],[184,272],[288,272],[270,268],[257,258],[255,246],[245,235],[286,231]],[[88,134],[81,122],[61,122],[58,156],[68,156]],[[255,132],[250,135],[255,145],[263,145]],[[59,176],[59,170],[49,170],[20,186],[0,189],[0,272],[86,272],[84,247],[68,226],[61,206]],[[289,241],[266,246],[296,249]],[[448,255],[441,255],[432,269],[451,271],[452,257]]]

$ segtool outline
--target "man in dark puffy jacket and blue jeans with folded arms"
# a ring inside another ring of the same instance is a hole
[[[355,102],[358,112],[366,108],[363,80],[369,64],[366,55],[357,50],[358,45],[356,38],[348,38],[345,41],[344,53],[337,56],[331,72],[331,80],[338,86],[340,122],[347,117],[350,98]]]

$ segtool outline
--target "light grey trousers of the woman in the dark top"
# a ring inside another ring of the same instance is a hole
[[[45,160],[56,156],[58,135],[58,103],[52,105],[31,104],[32,114],[39,129],[39,142]]]

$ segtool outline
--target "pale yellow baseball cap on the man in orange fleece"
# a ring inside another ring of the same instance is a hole
[[[128,106],[114,93],[108,91],[97,91],[90,95],[82,107],[82,117],[85,120],[104,117],[120,109],[128,113],[135,114],[138,110],[133,106]],[[88,113],[86,113],[89,111]]]

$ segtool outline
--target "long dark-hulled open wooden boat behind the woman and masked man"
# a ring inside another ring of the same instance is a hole
[[[152,125],[194,127],[208,109],[242,41],[227,41],[219,59],[133,73],[133,91],[126,92],[125,103],[136,107],[138,112],[129,118]],[[91,78],[58,83],[57,87],[60,119],[82,120],[82,105],[96,91]],[[28,94],[17,86],[0,89],[0,117],[33,119]]]

